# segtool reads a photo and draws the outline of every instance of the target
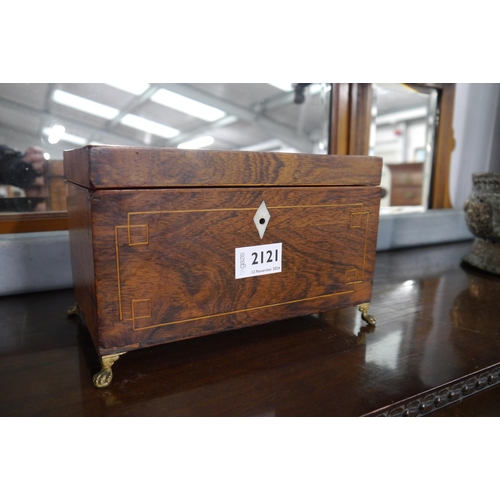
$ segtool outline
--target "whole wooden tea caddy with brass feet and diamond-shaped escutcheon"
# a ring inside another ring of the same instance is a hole
[[[329,309],[368,315],[382,160],[65,151],[77,304],[106,387],[127,351]]]

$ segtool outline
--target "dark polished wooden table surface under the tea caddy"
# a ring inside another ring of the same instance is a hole
[[[105,389],[72,290],[0,298],[1,416],[500,415],[500,277],[471,242],[377,255],[356,308],[128,353]]]

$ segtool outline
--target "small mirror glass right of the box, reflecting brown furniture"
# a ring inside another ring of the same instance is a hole
[[[382,213],[428,208],[436,115],[434,89],[373,85],[369,154],[383,158]]]

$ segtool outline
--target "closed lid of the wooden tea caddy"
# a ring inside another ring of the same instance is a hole
[[[382,158],[85,146],[64,152],[66,179],[90,188],[377,186]]]

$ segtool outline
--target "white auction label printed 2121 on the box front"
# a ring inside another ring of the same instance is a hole
[[[281,273],[281,243],[236,248],[234,275],[236,279]]]

